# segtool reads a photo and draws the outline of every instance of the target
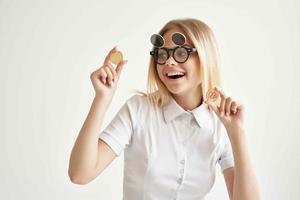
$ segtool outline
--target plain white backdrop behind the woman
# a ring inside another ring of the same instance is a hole
[[[132,89],[146,89],[151,34],[182,17],[216,35],[264,199],[300,199],[299,9],[296,0],[0,0],[0,199],[121,199],[123,156],[88,185],[68,178],[94,96],[90,73],[114,45],[129,60],[105,127]],[[224,196],[218,172],[208,199]]]

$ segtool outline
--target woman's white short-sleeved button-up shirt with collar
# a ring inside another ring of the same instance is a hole
[[[185,111],[172,98],[153,107],[135,95],[99,138],[118,156],[124,150],[124,200],[201,200],[216,164],[234,166],[226,129],[206,104]]]

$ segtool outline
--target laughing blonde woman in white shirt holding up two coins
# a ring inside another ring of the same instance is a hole
[[[147,93],[128,99],[100,135],[127,61],[114,69],[113,48],[91,74],[96,94],[72,150],[72,182],[90,182],[124,150],[124,199],[204,199],[217,163],[230,199],[260,199],[244,108],[220,89],[211,29],[197,19],[172,20],[151,42]],[[218,101],[206,96],[212,89]]]

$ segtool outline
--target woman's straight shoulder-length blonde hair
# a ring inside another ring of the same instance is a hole
[[[200,74],[202,83],[202,97],[206,100],[206,93],[214,86],[221,86],[219,74],[219,50],[212,30],[204,22],[198,19],[174,19],[169,21],[159,31],[164,35],[172,28],[181,29],[197,49],[200,60]],[[138,94],[146,96],[149,102],[155,106],[164,106],[169,102],[171,94],[160,80],[156,64],[151,56],[148,69],[147,92],[137,91]]]

